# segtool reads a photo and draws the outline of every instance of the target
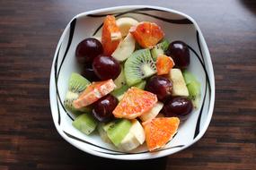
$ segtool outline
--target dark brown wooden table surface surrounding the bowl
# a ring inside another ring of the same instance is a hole
[[[153,4],[198,21],[216,75],[216,105],[204,137],[170,157],[93,157],[58,135],[49,108],[50,66],[77,13]],[[256,169],[256,2],[0,0],[0,169]]]

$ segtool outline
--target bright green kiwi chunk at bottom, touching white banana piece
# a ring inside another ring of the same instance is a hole
[[[126,137],[131,128],[132,123],[127,119],[117,119],[107,130],[108,137],[116,147]]]

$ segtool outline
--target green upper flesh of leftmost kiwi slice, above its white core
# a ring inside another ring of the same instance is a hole
[[[79,73],[72,72],[70,79],[68,81],[68,90],[75,93],[80,93],[91,84],[90,81],[86,80]]]

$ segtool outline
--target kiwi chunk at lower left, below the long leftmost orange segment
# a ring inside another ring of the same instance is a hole
[[[79,115],[75,118],[75,121],[72,123],[72,125],[76,129],[78,129],[81,132],[84,132],[84,134],[87,135],[89,135],[95,130],[97,124],[98,121],[91,114]]]

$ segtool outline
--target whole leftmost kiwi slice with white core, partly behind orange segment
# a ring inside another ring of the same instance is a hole
[[[91,112],[91,108],[86,106],[80,109],[76,109],[73,106],[73,101],[79,97],[80,93],[87,88],[91,84],[90,81],[87,81],[82,75],[73,72],[70,76],[70,79],[68,81],[68,90],[66,92],[66,98],[64,100],[64,106],[65,108],[77,115],[80,114],[81,112]]]

